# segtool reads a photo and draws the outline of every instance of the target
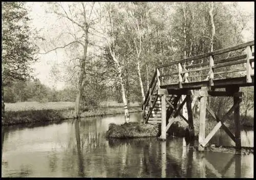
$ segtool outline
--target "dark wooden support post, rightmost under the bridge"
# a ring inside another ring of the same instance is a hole
[[[237,92],[239,87],[237,88]],[[233,97],[234,105],[241,102],[240,97]],[[236,124],[236,131],[234,136],[236,138],[236,150],[241,150],[241,125],[240,125],[240,104],[234,108],[234,123]]]

